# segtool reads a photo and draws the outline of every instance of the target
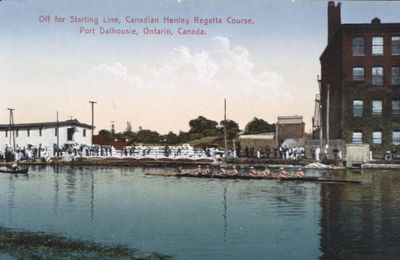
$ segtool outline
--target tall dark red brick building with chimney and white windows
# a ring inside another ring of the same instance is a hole
[[[320,57],[322,127],[329,102],[329,138],[369,144],[381,157],[400,145],[400,23],[373,18],[342,24],[340,8],[328,3],[328,44]]]

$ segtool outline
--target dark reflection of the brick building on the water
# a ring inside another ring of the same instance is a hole
[[[364,185],[321,185],[321,259],[398,258],[400,175],[363,171]]]

